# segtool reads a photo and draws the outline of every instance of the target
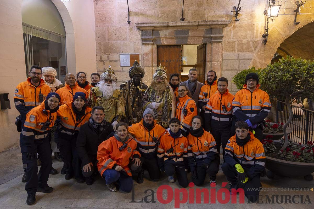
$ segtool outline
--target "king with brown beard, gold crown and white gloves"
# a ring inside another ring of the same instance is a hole
[[[168,127],[170,118],[175,117],[176,99],[168,86],[165,66],[161,64],[155,69],[153,81],[143,96],[143,110],[154,110],[155,120],[164,128]]]

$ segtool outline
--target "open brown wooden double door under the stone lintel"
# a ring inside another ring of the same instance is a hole
[[[181,79],[182,67],[196,68],[198,71],[198,81],[204,83],[206,81],[206,44],[200,44],[197,47],[197,62],[195,65],[182,65],[182,45],[157,46],[157,65],[163,65],[167,69],[167,77],[173,73],[178,73]],[[185,81],[187,79],[182,79]]]

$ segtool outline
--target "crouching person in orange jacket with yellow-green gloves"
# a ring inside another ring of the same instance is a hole
[[[251,201],[258,199],[260,176],[265,170],[265,152],[263,144],[249,131],[244,121],[235,123],[236,135],[232,136],[225,148],[225,163],[221,169],[231,183],[229,191],[244,189],[244,195]],[[235,190],[234,190],[235,189]]]

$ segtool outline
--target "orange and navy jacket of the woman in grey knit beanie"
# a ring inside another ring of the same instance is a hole
[[[160,140],[160,137],[166,132],[166,129],[157,124],[155,120],[153,123],[154,126],[150,131],[144,127],[143,119],[128,128],[129,133],[134,136],[134,140],[137,142],[139,153],[147,159],[156,158],[156,143],[153,137]]]

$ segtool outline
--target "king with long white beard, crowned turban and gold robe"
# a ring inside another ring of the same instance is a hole
[[[125,100],[122,90],[116,86],[117,77],[111,66],[100,76],[100,82],[90,89],[87,103],[91,107],[101,106],[105,109],[105,120],[112,123],[113,129],[122,117],[125,117]]]

